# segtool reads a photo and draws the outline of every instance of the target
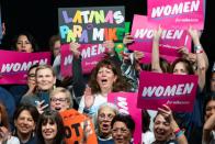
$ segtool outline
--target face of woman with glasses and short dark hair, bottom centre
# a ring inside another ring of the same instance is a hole
[[[124,122],[116,121],[113,124],[112,136],[115,144],[129,144],[132,133],[129,132]]]

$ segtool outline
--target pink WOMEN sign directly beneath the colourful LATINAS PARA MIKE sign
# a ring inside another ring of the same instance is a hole
[[[61,75],[64,77],[71,76],[72,69],[72,54],[69,49],[69,44],[64,44],[61,46]],[[104,57],[106,48],[102,44],[81,44],[81,67],[83,74],[89,74],[94,68],[94,66]]]

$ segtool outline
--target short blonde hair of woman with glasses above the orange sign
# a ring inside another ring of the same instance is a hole
[[[72,108],[72,107],[73,107],[73,101],[72,101],[72,99],[71,99],[71,93],[70,93],[69,90],[67,90],[66,88],[57,87],[57,88],[53,89],[53,90],[50,91],[50,99],[52,99],[56,93],[59,93],[59,92],[65,93],[66,99],[67,99],[67,101],[69,102],[69,108]]]

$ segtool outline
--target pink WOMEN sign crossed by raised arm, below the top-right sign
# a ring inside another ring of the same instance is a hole
[[[151,54],[154,30],[157,27],[158,25],[149,22],[147,16],[135,14],[131,33],[134,36],[135,43],[129,45],[128,48],[132,51],[142,51]],[[176,58],[181,57],[181,55],[178,53],[178,49],[181,46],[186,46],[189,52],[191,52],[191,37],[186,31],[162,31],[159,42],[159,51],[163,58],[173,62]],[[150,58],[148,58],[146,55],[145,59],[147,59],[146,62],[148,63]]]

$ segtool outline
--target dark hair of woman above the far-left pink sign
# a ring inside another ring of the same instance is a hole
[[[35,38],[33,37],[33,35],[29,32],[21,32],[20,34],[15,35],[15,37],[13,38],[12,41],[12,49],[13,51],[16,51],[16,43],[18,43],[18,38],[21,36],[21,35],[25,35],[27,37],[27,40],[30,41],[30,43],[32,44],[32,48],[33,48],[33,52],[37,52],[38,51],[38,46],[36,44],[36,41]]]

